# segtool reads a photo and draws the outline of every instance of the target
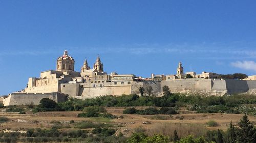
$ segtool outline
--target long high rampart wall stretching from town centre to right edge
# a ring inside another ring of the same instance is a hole
[[[168,86],[172,93],[192,93],[199,95],[217,95],[234,93],[246,93],[255,91],[256,81],[236,80],[236,79],[178,79],[169,81],[133,81],[131,84],[104,83],[62,83],[61,93],[69,96],[92,98],[105,95],[138,94],[139,88],[145,89],[144,95],[148,95],[147,87],[152,87],[151,95],[162,96],[162,88]]]

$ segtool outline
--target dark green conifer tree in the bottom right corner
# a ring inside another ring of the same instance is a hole
[[[247,115],[244,115],[238,123],[240,127],[237,132],[237,139],[240,143],[256,142],[256,129],[250,123]]]

